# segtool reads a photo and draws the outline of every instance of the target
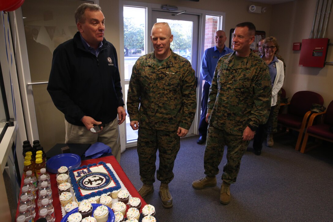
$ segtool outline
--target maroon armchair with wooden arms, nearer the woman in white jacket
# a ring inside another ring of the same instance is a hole
[[[288,103],[287,113],[279,113],[277,116],[277,123],[282,127],[296,130],[299,132],[295,150],[299,150],[303,132],[311,114],[312,103],[320,105],[324,104],[324,99],[321,95],[311,91],[296,92]]]

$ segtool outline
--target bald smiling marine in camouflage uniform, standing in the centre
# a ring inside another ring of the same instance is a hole
[[[127,96],[127,110],[133,130],[139,129],[137,143],[142,197],[154,191],[156,152],[160,166],[160,197],[165,208],[172,207],[168,183],[180,148],[196,110],[195,72],[187,59],[170,49],[173,36],[167,23],[156,23],[151,40],[154,52],[141,56],[133,66]],[[140,125],[140,127],[139,127]]]

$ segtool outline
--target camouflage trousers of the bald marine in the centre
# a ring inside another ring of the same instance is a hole
[[[159,150],[160,166],[157,179],[169,183],[173,179],[173,165],[180,148],[177,131],[151,130],[139,127],[137,143],[140,176],[144,184],[155,182],[156,152]]]

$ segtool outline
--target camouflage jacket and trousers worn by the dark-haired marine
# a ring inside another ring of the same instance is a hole
[[[244,129],[257,127],[267,121],[271,102],[271,81],[267,65],[251,51],[237,66],[234,54],[223,56],[217,63],[209,91],[207,113],[210,113],[206,149],[204,153],[205,174],[215,177],[222,160],[221,141],[238,149],[228,150],[222,180],[236,182],[240,160],[249,140],[243,140]],[[223,134],[221,134],[223,132]],[[229,148],[228,148],[229,149]],[[223,149],[222,149],[223,150]]]

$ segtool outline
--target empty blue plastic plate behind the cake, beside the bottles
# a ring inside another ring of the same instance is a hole
[[[51,173],[58,173],[58,169],[61,166],[67,166],[68,169],[76,168],[81,165],[81,158],[79,155],[74,153],[63,153],[58,154],[46,162],[46,169]]]

